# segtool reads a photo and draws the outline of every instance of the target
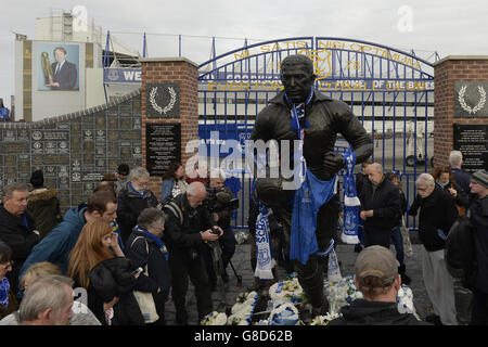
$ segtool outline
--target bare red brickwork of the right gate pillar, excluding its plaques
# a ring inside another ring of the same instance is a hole
[[[487,124],[488,101],[484,110],[473,115],[454,117],[459,110],[457,81],[488,82],[488,56],[449,55],[434,64],[434,165],[448,166],[449,153],[454,149],[453,124]],[[488,89],[487,89],[488,92]],[[478,95],[476,95],[477,98]],[[479,98],[475,99],[477,102]],[[457,105],[458,104],[458,105]],[[472,102],[471,107],[474,107]]]

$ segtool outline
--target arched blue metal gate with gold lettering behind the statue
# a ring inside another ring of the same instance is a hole
[[[198,67],[201,139],[218,131],[221,143],[244,145],[256,115],[282,90],[280,63],[291,54],[312,59],[316,88],[350,105],[374,141],[372,159],[399,174],[410,205],[416,176],[429,170],[434,131],[434,68],[413,52],[344,38],[296,37],[214,56]],[[339,139],[336,150],[347,145]],[[241,180],[234,227],[246,228],[251,178],[242,168],[231,171]],[[408,222],[415,227],[414,220]]]

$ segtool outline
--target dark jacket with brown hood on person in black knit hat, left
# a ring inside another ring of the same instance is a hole
[[[46,188],[31,191],[27,210],[34,216],[42,240],[62,220],[57,191]]]

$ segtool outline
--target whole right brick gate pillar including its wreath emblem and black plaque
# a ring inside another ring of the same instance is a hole
[[[434,66],[434,165],[460,150],[463,168],[475,171],[488,142],[488,56],[450,55]]]

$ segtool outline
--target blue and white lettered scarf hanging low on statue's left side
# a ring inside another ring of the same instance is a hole
[[[273,249],[269,235],[268,211],[265,205],[258,202],[259,215],[256,219],[256,256],[257,264],[254,275],[259,280],[272,280],[272,269],[275,265]]]

